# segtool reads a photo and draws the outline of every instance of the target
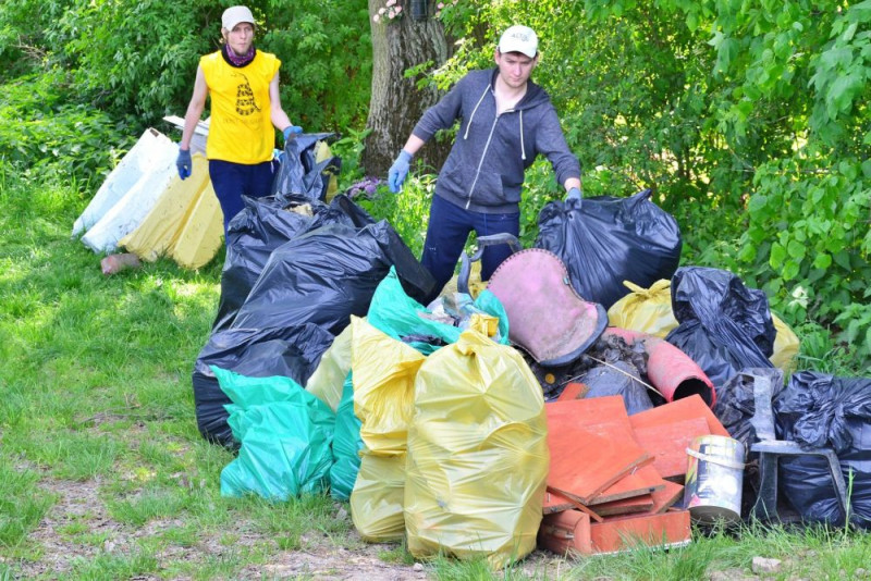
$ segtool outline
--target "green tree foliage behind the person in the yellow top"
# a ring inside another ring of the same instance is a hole
[[[360,33],[366,2],[248,5],[258,20],[256,45],[283,62],[291,119],[308,131],[360,126],[371,78],[369,35]],[[219,48],[224,8],[210,0],[10,0],[0,5],[0,58],[12,65],[0,81],[61,70],[75,87],[61,94],[61,104],[128,119],[137,135],[167,114],[184,114],[199,57]]]

